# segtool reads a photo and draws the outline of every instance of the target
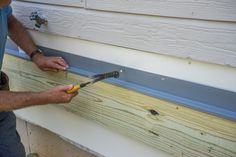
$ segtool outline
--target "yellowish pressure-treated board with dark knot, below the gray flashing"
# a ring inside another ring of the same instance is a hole
[[[41,91],[87,81],[76,74],[42,72],[31,62],[9,55],[4,71],[12,90]],[[60,107],[175,156],[236,155],[236,122],[107,83],[80,90],[70,105]]]

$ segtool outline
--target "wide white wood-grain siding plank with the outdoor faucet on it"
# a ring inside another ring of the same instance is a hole
[[[152,53],[236,66],[236,23],[108,13],[14,2],[30,29],[33,11],[48,19],[39,31]],[[112,53],[112,52],[111,52]]]

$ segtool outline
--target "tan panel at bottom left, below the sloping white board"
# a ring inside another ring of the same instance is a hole
[[[40,157],[95,157],[58,135],[24,120],[17,119],[17,130],[26,154],[38,153]]]

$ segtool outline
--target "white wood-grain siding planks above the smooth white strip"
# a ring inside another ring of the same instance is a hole
[[[34,22],[29,20],[31,12],[45,16],[48,25],[40,28],[41,32],[236,66],[236,2],[232,0],[87,0],[83,8],[64,6],[70,2],[63,6],[43,3],[50,5],[15,1],[12,6],[30,29],[34,29]]]

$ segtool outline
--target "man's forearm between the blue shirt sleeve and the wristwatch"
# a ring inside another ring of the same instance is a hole
[[[25,27],[12,15],[8,20],[9,37],[28,55],[37,50]]]

